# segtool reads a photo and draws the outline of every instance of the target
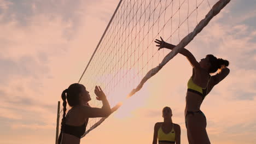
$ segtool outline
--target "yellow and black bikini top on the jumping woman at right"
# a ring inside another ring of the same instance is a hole
[[[211,77],[210,77],[210,79],[211,79]],[[188,81],[188,91],[201,95],[202,100],[205,99],[205,97],[207,95],[207,88],[208,88],[208,83],[209,83],[210,79],[208,79],[206,88],[202,88],[202,87],[196,85],[193,82],[192,77],[190,77],[190,79]]]

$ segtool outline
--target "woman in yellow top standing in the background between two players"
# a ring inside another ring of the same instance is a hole
[[[170,107],[162,109],[164,122],[155,123],[153,144],[175,143],[181,144],[181,127],[172,123],[172,110]]]

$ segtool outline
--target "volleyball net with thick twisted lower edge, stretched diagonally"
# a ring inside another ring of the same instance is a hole
[[[94,94],[97,85],[107,95],[112,110],[117,110],[120,101],[139,91],[229,1],[121,0],[79,80],[91,92],[90,105],[102,106]],[[154,40],[160,36],[177,46],[171,52],[158,51]],[[90,118],[85,134],[104,119]]]

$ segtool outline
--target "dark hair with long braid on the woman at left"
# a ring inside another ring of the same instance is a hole
[[[68,89],[65,89],[62,94],[61,98],[63,100],[62,106],[63,106],[63,115],[61,120],[61,132],[58,139],[58,144],[61,143],[62,139],[62,133],[65,129],[65,123],[66,123],[66,111],[67,111],[67,102],[69,106],[75,106],[79,104],[79,93],[81,93],[81,85],[79,83],[73,83],[68,87]],[[67,95],[66,95],[67,94]],[[67,99],[67,101],[66,101]]]

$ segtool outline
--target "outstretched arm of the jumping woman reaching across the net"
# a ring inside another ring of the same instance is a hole
[[[161,40],[156,39],[155,43],[158,44],[158,45],[156,45],[159,47],[158,50],[160,50],[162,48],[172,50],[176,46],[176,45],[166,43],[164,40],[162,40],[162,38],[161,38]],[[195,57],[192,55],[192,53],[189,50],[183,48],[179,53],[181,53],[183,56],[187,57],[188,61],[190,62],[191,66],[193,68],[195,68],[195,69],[200,68],[199,62],[196,61]]]

